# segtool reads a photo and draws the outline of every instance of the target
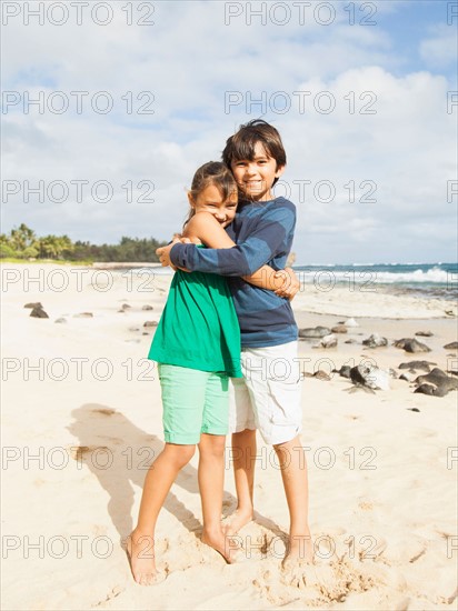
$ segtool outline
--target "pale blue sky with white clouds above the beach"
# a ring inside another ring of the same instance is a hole
[[[241,123],[297,264],[455,262],[458,2],[3,1],[1,231],[169,240]]]

